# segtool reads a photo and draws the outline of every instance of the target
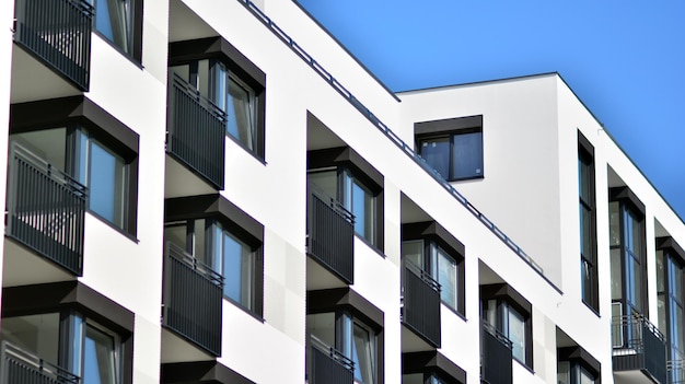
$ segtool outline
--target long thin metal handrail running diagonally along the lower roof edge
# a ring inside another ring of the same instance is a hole
[[[543,268],[535,263],[516,243],[514,243],[504,232],[502,232],[492,221],[490,221],[485,214],[483,214],[476,207],[474,207],[462,194],[460,194],[454,186],[452,186],[444,177],[442,177],[438,171],[431,167],[428,162],[419,154],[417,154],[411,147],[405,143],[395,132],[393,132],[383,121],[381,121],[368,107],[365,107],[359,98],[355,97],[340,82],[338,82],[321,63],[307,54],[298,43],[295,43],[283,30],[271,21],[252,0],[237,0],[242,3],[253,15],[259,19],[264,25],[266,25],[278,38],[287,44],[293,53],[295,53],[302,60],[304,60],[316,73],[318,73],[330,86],[333,86],[340,95],[342,95],[357,110],[359,110],[364,117],[371,121],[382,133],[384,133],[395,146],[397,146],[403,152],[405,152],[415,163],[421,166],[430,176],[433,177],[452,197],[454,197],[462,206],[464,206],[473,216],[475,216],[486,228],[495,233],[510,249],[512,249],[523,261],[525,261],[537,275],[539,275],[547,283],[549,283],[557,292],[562,293],[561,290],[549,280],[545,275]]]

